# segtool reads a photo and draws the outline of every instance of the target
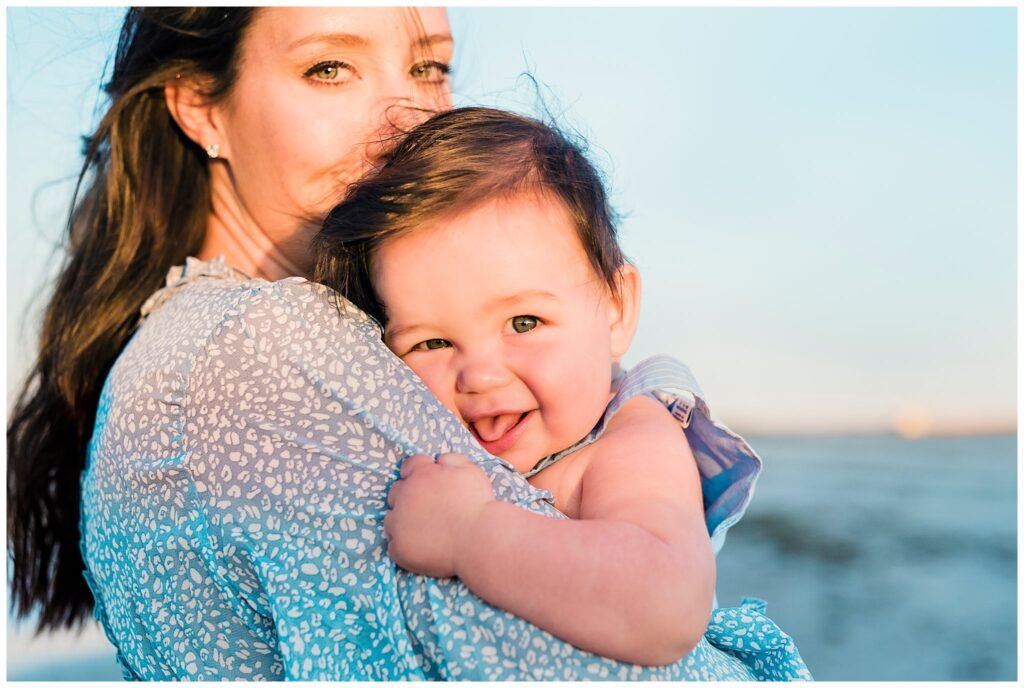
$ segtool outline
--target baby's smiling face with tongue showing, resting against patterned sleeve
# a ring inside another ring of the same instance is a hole
[[[373,272],[385,343],[490,454],[526,471],[601,417],[632,329],[560,201],[485,202],[384,242]]]

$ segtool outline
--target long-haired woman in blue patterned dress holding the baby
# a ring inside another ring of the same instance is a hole
[[[645,669],[384,555],[414,453],[465,453],[500,499],[557,516],[369,318],[290,276],[346,184],[449,105],[451,51],[434,9],[129,12],[8,428],[19,611],[55,628],[94,604],[142,679],[803,676],[784,634],[761,638],[761,668],[712,645],[741,615],[768,628],[755,609]]]

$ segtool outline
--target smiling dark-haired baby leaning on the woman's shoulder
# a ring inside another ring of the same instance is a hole
[[[443,113],[351,189],[315,248],[314,278],[570,519],[497,501],[462,455],[414,456],[388,494],[394,561],[597,654],[688,653],[715,590],[701,476],[688,418],[613,383],[640,277],[582,152],[517,115]]]

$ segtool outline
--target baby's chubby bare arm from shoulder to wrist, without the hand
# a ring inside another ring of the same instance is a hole
[[[578,647],[675,661],[703,634],[715,589],[692,454],[647,397],[628,402],[592,448],[580,520],[490,502],[466,531],[456,572],[492,604]]]

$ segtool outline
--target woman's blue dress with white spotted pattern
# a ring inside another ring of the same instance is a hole
[[[689,655],[647,668],[579,650],[456,578],[397,569],[381,523],[410,454],[464,453],[499,499],[564,516],[328,295],[189,259],[143,307],[82,476],[85,575],[126,678],[810,678],[753,604],[716,609]],[[706,420],[696,407],[689,428]],[[742,496],[709,504],[713,532],[745,507],[760,463],[740,463]]]

